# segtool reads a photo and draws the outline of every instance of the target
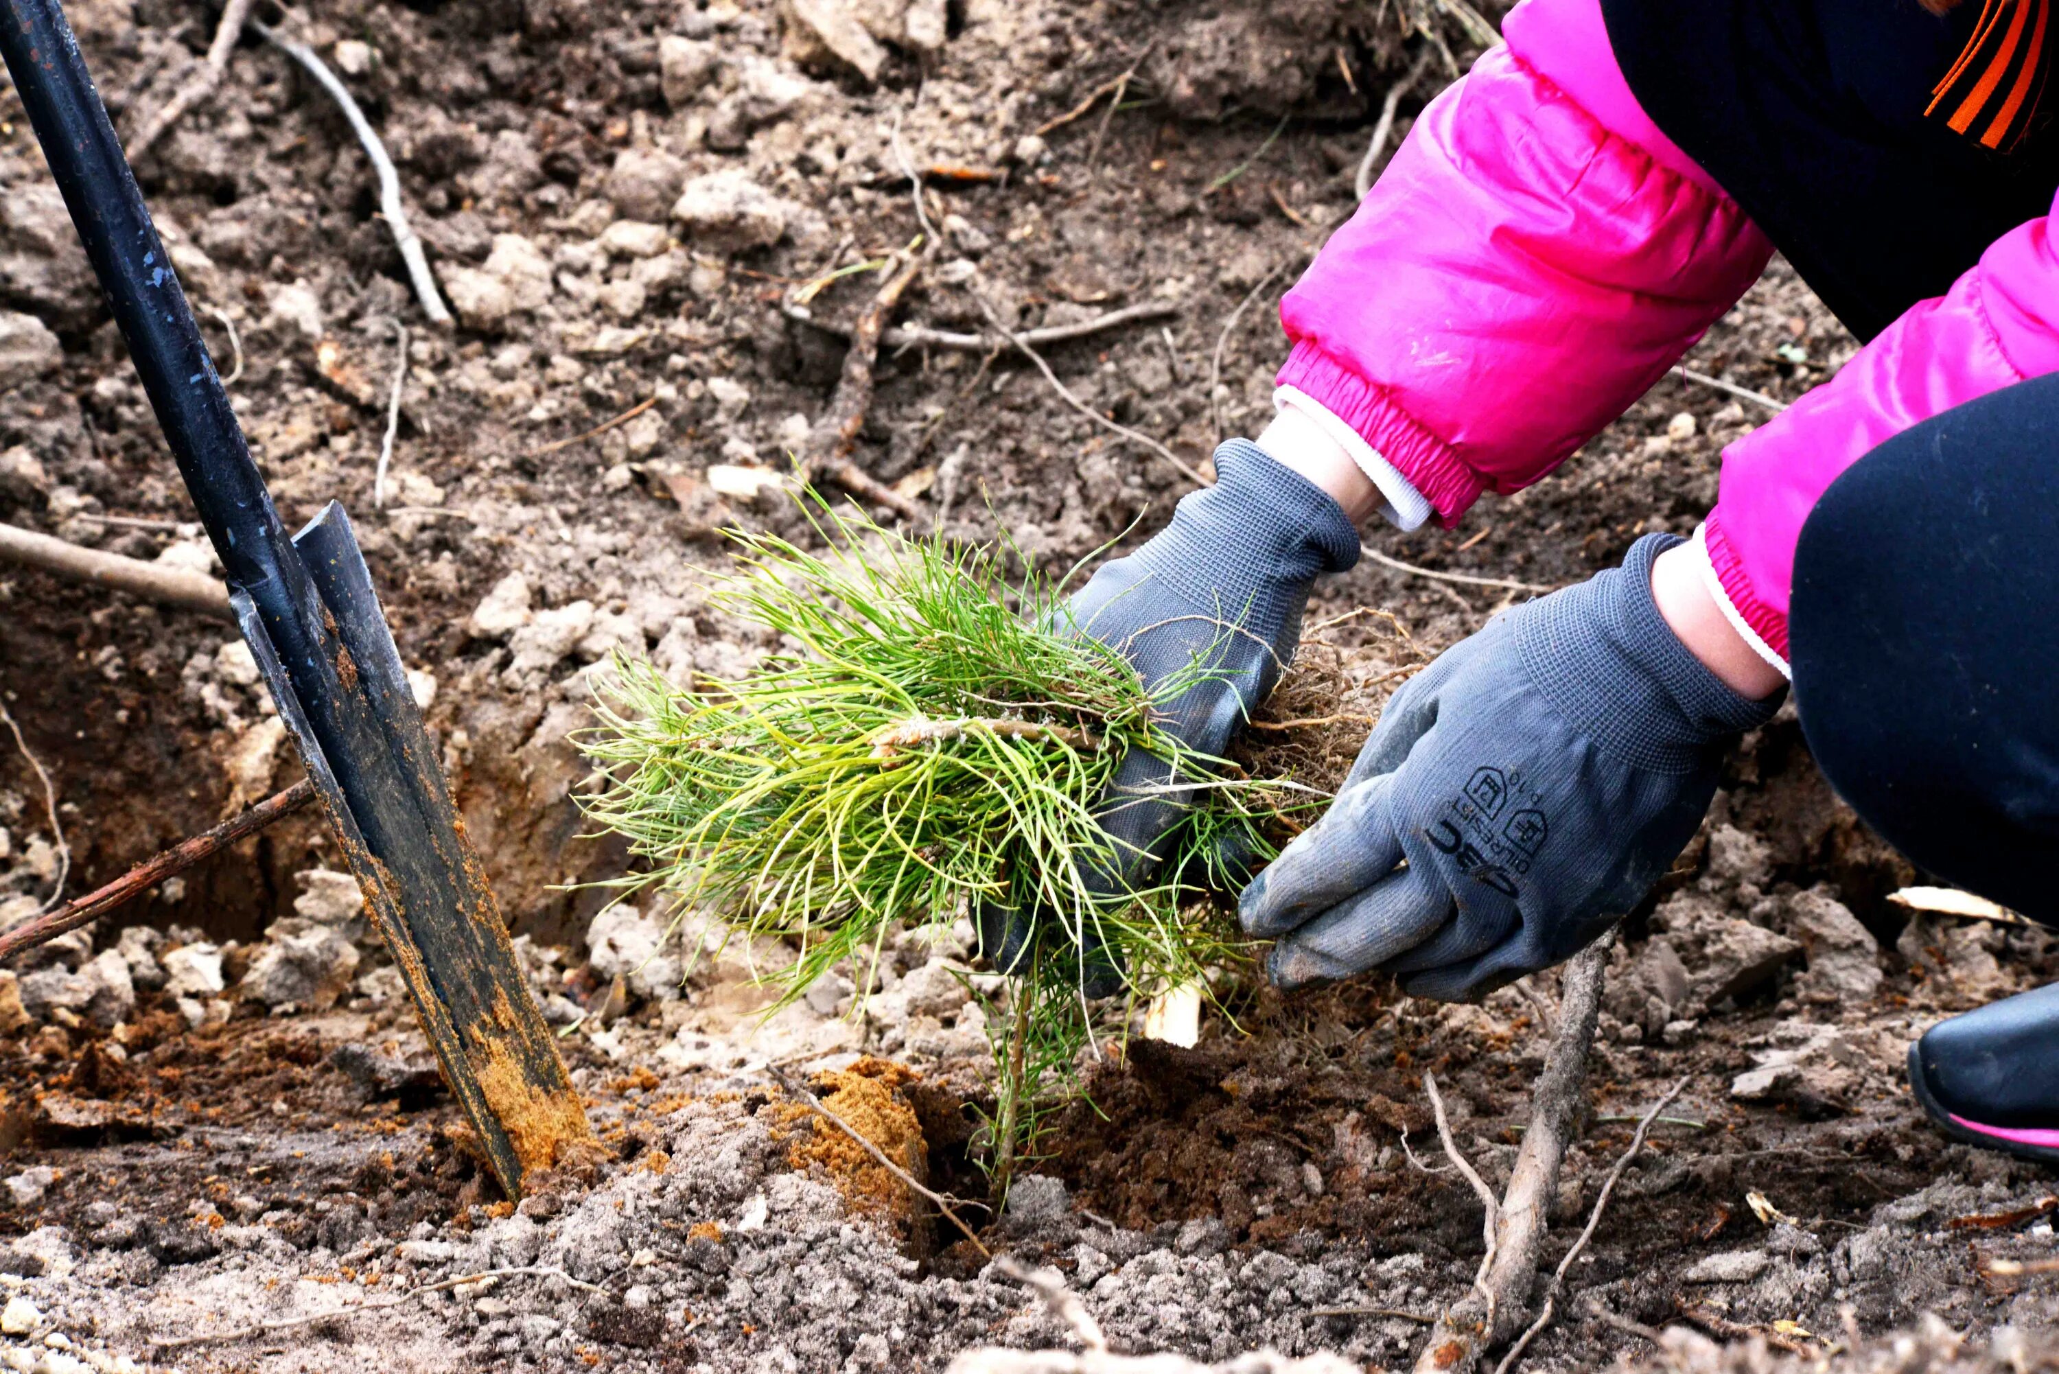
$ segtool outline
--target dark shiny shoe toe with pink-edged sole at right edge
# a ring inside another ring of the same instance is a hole
[[[2059,1164],[2059,983],[1954,1016],[1909,1046],[1909,1086],[1946,1135]]]

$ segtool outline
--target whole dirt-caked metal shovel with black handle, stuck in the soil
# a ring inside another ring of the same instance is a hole
[[[288,540],[58,0],[6,0],[0,58],[229,575],[243,637],[500,1187],[591,1149],[356,538]]]

